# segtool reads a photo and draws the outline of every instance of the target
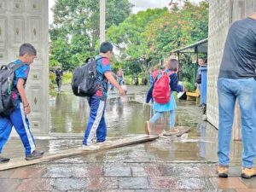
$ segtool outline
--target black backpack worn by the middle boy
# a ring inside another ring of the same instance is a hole
[[[71,86],[75,96],[93,96],[96,93],[97,60],[89,61],[84,66],[74,70]]]

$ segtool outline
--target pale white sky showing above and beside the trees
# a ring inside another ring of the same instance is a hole
[[[95,0],[96,1],[96,0]],[[201,0],[190,0],[191,2],[198,3]],[[130,3],[134,4],[132,9],[133,13],[137,13],[141,10],[154,9],[154,8],[164,8],[171,2],[171,0],[129,0]],[[180,0],[173,0],[173,3],[179,3]],[[55,0],[49,0],[49,24],[53,22],[53,13],[50,8],[55,4]]]

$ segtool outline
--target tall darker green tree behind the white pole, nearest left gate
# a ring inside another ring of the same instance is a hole
[[[50,53],[64,69],[73,69],[96,54],[100,34],[99,0],[56,0],[50,27]],[[131,14],[128,0],[108,0],[106,26],[118,25]]]

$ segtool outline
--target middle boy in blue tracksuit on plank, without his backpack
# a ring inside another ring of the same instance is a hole
[[[100,47],[100,54],[96,56],[96,84],[97,91],[94,96],[88,98],[90,105],[90,117],[84,133],[83,145],[92,144],[96,134],[96,142],[102,143],[107,137],[107,125],[104,118],[106,100],[108,93],[108,81],[119,90],[121,96],[125,91],[118,82],[113,78],[109,60],[113,54],[113,45],[109,42],[103,42]]]

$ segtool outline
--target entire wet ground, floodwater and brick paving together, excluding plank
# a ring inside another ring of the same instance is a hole
[[[134,92],[137,94],[122,100],[115,94],[110,96],[106,113],[108,140],[143,134],[143,122],[149,118],[150,108],[139,103],[143,101],[140,91]],[[61,93],[62,101],[56,105],[56,96],[50,97],[52,135],[37,139],[38,146],[49,153],[80,147],[87,120],[86,102],[79,105],[81,102],[67,91]],[[192,128],[184,137],[160,137],[150,143],[3,171],[0,191],[256,192],[256,178],[239,177],[241,142],[232,142],[230,177],[216,177],[218,131],[201,122],[201,111],[195,103],[181,101],[177,106],[177,125]],[[63,123],[61,117],[69,120]],[[160,119],[154,130],[163,130],[166,121],[167,116]],[[3,154],[23,155],[19,138],[12,137]]]

